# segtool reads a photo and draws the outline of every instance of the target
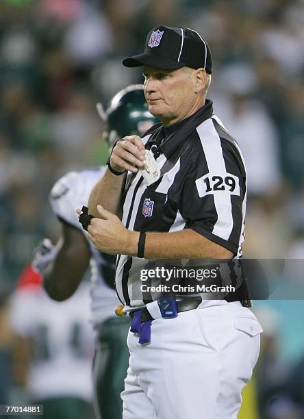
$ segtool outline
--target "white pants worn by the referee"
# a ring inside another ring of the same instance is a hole
[[[123,419],[236,419],[261,332],[240,303],[153,320],[150,344],[129,332]]]

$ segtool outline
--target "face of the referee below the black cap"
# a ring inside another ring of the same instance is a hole
[[[202,69],[165,70],[144,66],[144,95],[149,112],[165,126],[194,114],[205,103]]]

